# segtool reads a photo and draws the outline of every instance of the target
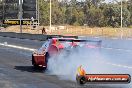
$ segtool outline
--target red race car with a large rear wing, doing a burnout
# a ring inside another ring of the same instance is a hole
[[[61,54],[61,51],[72,50],[75,47],[99,48],[101,40],[82,40],[75,38],[51,38],[47,39],[42,47],[32,54],[32,65],[34,67],[47,68],[47,62],[50,57]]]

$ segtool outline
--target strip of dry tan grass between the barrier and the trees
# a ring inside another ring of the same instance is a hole
[[[66,26],[65,29],[49,30],[48,26],[44,26],[47,34],[59,35],[79,35],[79,36],[107,36],[107,37],[132,37],[132,28],[89,28],[84,26]],[[42,34],[43,26],[39,26],[32,30],[30,26],[22,27],[23,33]],[[20,32],[20,26],[7,27],[3,32]]]

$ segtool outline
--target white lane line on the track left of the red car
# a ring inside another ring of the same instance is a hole
[[[5,43],[0,43],[1,46],[6,46],[6,47],[11,47],[11,48],[16,48],[16,49],[23,49],[23,50],[29,50],[29,51],[34,51],[35,49],[33,48],[27,48],[27,47],[22,47],[22,46],[16,46],[16,45],[10,45]]]

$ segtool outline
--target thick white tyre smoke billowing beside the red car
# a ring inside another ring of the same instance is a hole
[[[48,71],[57,75],[62,80],[73,80],[77,68],[82,65],[88,74],[131,74],[130,70],[116,67],[105,62],[112,62],[109,55],[101,49],[78,48],[70,50],[69,53],[62,52],[56,58],[48,60]]]

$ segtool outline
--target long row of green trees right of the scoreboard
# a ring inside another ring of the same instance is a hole
[[[132,25],[132,0],[123,1],[123,27]],[[40,23],[49,25],[49,0],[39,0]],[[121,2],[104,0],[52,0],[53,25],[120,27]]]

